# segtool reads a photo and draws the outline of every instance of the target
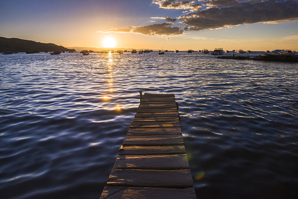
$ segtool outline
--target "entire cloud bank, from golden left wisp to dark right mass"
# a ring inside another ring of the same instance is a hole
[[[295,21],[298,19],[297,0],[209,0],[209,1],[176,1],[154,0],[153,4],[164,9],[179,9],[186,13],[179,18],[184,30],[174,26],[176,18],[152,17],[164,19],[168,23],[149,26],[134,26],[104,32],[134,32],[144,35],[181,35],[184,31],[215,29],[240,24],[274,21]]]

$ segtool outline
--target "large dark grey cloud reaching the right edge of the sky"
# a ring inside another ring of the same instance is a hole
[[[219,2],[217,2],[219,1]],[[224,6],[222,0],[206,1],[211,5]],[[286,1],[226,1],[229,7],[209,7],[199,12],[180,16],[182,23],[190,26],[189,30],[215,29],[240,24],[269,22],[269,21],[294,21],[298,18],[298,2]]]

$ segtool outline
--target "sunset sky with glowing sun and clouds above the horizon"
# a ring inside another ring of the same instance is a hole
[[[298,51],[298,0],[0,0],[0,19],[64,47]]]

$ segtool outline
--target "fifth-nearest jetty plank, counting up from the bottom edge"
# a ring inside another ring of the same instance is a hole
[[[127,135],[124,138],[123,146],[166,146],[184,144],[182,135]]]

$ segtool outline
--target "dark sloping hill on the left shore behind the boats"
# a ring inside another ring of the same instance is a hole
[[[5,38],[0,37],[0,52],[26,52],[26,51],[70,51],[74,49],[58,46],[53,43],[40,43],[36,41],[18,39],[18,38]]]

